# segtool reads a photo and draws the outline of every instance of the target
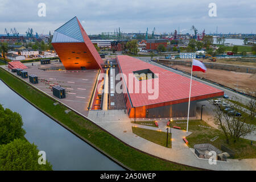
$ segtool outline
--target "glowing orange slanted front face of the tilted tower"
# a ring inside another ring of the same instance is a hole
[[[66,69],[100,69],[85,43],[52,43]]]

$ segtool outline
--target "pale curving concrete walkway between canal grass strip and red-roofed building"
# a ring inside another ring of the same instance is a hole
[[[228,162],[217,161],[217,164],[212,165],[209,164],[208,160],[198,159],[192,150],[183,142],[183,137],[189,135],[189,133],[187,134],[182,130],[172,129],[172,148],[159,146],[158,144],[138,137],[133,134],[132,126],[134,125],[152,130],[157,130],[157,128],[131,123],[131,119],[128,118],[123,110],[91,110],[88,117],[123,142],[159,158],[212,170],[256,170],[256,159],[228,159]],[[166,125],[166,121],[159,122],[159,129],[164,131],[164,125]]]

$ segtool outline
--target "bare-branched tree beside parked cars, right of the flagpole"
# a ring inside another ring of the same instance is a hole
[[[245,137],[255,130],[254,125],[245,122],[246,118],[243,117],[245,112],[240,105],[233,104],[232,108],[240,110],[242,117],[228,113],[228,111],[222,110],[219,106],[216,106],[214,110],[216,113],[214,115],[214,123],[218,126],[218,129],[223,131],[227,143],[229,143],[230,139],[233,140],[233,143],[236,143],[241,137]]]

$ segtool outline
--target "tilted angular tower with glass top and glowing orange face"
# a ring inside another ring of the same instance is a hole
[[[76,16],[55,30],[52,46],[65,69],[101,69],[101,56]]]

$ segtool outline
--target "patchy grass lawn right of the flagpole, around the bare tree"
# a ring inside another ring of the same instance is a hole
[[[174,121],[174,125],[180,126],[181,129],[184,129],[187,127],[186,123],[178,124],[176,122],[180,122],[180,121]],[[204,127],[199,127],[198,125],[209,126],[204,121],[200,121],[200,120],[189,121],[188,131],[192,132],[192,134],[187,137],[189,147],[193,148],[195,144],[200,144],[200,143],[210,143],[221,150],[221,144],[223,144],[224,146],[236,152],[236,155],[234,156],[235,159],[255,159],[256,158],[256,142],[254,142],[254,144],[251,146],[250,140],[241,138],[236,143],[233,143],[233,141],[230,140],[230,144],[226,144],[226,139],[222,131],[214,129],[213,127],[211,127],[211,129],[208,129]],[[218,136],[219,138],[214,140],[214,142],[211,142],[210,139],[216,136]]]

